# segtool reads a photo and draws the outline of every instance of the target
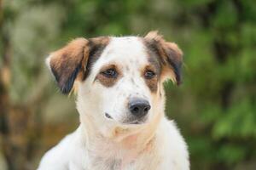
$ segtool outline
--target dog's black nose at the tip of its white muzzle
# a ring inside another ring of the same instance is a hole
[[[150,105],[145,99],[131,99],[128,104],[131,114],[137,117],[146,116],[150,110]]]

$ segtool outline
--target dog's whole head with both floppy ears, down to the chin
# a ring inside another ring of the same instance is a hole
[[[64,94],[77,88],[81,122],[103,132],[156,119],[165,102],[162,82],[180,82],[182,52],[149,32],[146,37],[78,38],[50,54],[48,62]]]

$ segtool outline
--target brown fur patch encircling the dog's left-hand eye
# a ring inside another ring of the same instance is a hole
[[[107,71],[108,69],[114,69],[115,71],[117,71],[117,77],[105,77],[102,74],[102,71]],[[102,67],[100,73],[96,76],[96,80],[101,82],[103,86],[109,88],[112,87],[116,82],[118,82],[120,77],[122,77],[122,73],[121,71],[119,71],[116,65],[106,65]]]

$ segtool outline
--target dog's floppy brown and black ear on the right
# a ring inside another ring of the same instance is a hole
[[[177,85],[181,83],[183,52],[176,43],[166,42],[157,31],[150,31],[145,37],[148,48],[160,57],[162,74],[165,79],[171,78]]]

